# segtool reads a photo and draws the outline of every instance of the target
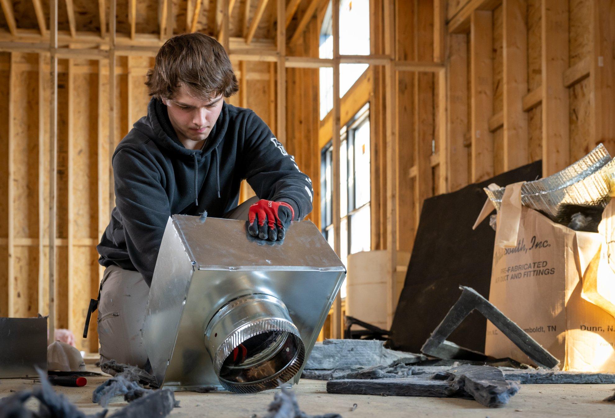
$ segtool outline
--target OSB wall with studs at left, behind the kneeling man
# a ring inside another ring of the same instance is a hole
[[[117,59],[116,144],[146,114],[152,65],[152,57]],[[245,68],[247,93],[228,101],[239,106],[245,95],[271,125],[269,64]],[[80,350],[97,352],[95,316],[88,339],[80,336],[98,294],[95,247],[109,219],[108,61],[60,60],[58,71],[56,328],[71,329]],[[0,53],[0,316],[49,312],[49,85],[49,55]]]

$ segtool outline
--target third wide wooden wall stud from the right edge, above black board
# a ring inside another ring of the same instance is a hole
[[[502,3],[505,172],[527,164],[530,159],[528,115],[522,106],[523,96],[528,92],[526,9],[526,0],[504,0]]]

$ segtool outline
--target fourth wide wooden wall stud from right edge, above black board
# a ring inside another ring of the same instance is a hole
[[[493,109],[491,15],[486,10],[475,10],[470,22],[472,183],[493,176],[493,137],[489,132]]]

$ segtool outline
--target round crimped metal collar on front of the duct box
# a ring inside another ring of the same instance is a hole
[[[228,302],[205,329],[220,384],[231,392],[275,388],[298,373],[305,347],[284,303],[251,294]]]

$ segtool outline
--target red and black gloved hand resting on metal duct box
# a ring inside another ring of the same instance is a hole
[[[295,211],[288,203],[261,199],[248,211],[248,232],[261,240],[283,240],[294,217]]]

